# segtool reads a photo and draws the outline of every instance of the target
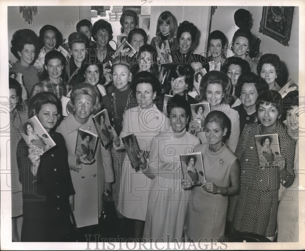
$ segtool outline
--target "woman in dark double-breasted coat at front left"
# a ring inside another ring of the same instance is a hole
[[[55,142],[48,151],[41,145],[18,144],[19,180],[23,186],[21,242],[65,241],[70,232],[70,210],[74,210],[74,188],[63,135],[54,132],[61,104],[50,92],[40,92],[29,100],[29,117],[37,116]],[[20,151],[19,151],[20,153]]]

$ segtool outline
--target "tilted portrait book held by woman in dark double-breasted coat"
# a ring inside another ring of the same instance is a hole
[[[41,155],[40,153],[46,152],[56,145],[36,115],[24,122],[17,130],[28,146],[35,145],[38,155]]]

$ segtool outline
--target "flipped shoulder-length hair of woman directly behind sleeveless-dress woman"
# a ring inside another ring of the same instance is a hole
[[[227,74],[212,70],[208,73],[204,74],[204,76],[201,78],[201,81],[199,83],[199,93],[200,95],[196,96],[196,99],[200,102],[203,100],[206,100],[206,87],[208,84],[221,84],[222,91],[223,91],[223,98],[221,102],[225,102],[229,104],[233,97],[230,94],[231,91],[231,81]]]

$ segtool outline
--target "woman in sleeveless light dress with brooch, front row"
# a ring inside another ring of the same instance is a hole
[[[186,214],[185,236],[194,242],[207,238],[221,238],[227,217],[228,195],[239,193],[240,166],[234,153],[224,144],[231,130],[231,121],[221,111],[210,112],[204,121],[207,143],[196,145],[201,152],[205,180],[199,175],[201,186],[182,182],[183,188],[192,188]],[[202,167],[197,166],[199,171]],[[200,172],[199,172],[200,174]],[[189,240],[188,240],[189,241]]]

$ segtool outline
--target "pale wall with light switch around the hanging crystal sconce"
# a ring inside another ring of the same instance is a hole
[[[64,28],[64,20],[74,20],[74,28]],[[14,32],[20,29],[31,29],[39,36],[39,30],[45,24],[55,26],[62,34],[63,38],[68,39],[69,35],[76,31],[76,24],[80,20],[78,6],[38,6],[38,14],[33,16],[33,25],[24,23],[22,13],[19,13],[18,6],[8,7],[8,45],[9,59],[16,61],[10,51],[11,40]]]

